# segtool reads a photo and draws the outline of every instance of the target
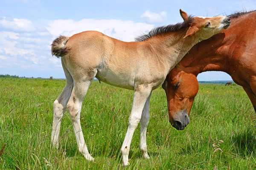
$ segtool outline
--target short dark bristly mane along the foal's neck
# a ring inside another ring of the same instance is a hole
[[[153,28],[151,31],[149,31],[148,34],[144,34],[142,36],[136,37],[135,41],[144,41],[144,40],[147,40],[148,38],[151,38],[155,35],[180,31],[183,28],[187,28],[189,26],[189,23],[191,23],[191,21],[192,21],[192,16],[190,15],[189,18],[186,21],[184,21],[183,23],[177,23],[174,25],[160,26],[157,28]]]

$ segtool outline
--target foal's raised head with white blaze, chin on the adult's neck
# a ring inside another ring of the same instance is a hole
[[[180,9],[180,15],[185,22],[188,22],[189,29],[183,38],[193,37],[197,42],[206,40],[223,29],[227,29],[231,21],[228,17],[189,17],[186,12]],[[193,36],[192,36],[193,35]]]

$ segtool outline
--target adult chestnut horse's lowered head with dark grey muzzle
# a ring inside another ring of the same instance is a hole
[[[189,113],[198,93],[197,78],[175,67],[162,87],[166,92],[169,122],[177,130],[184,130],[189,124]]]

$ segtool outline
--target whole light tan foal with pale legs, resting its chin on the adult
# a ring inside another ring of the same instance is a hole
[[[52,143],[58,147],[61,118],[65,108],[76,135],[79,152],[93,160],[84,142],[80,124],[82,102],[94,77],[102,82],[134,90],[129,126],[121,147],[123,164],[134,130],[140,122],[140,150],[148,157],[146,130],[151,91],[163,84],[169,71],[193,45],[218,34],[230,25],[228,17],[189,17],[180,10],[183,23],[154,28],[138,37],[138,42],[123,42],[97,31],[72,37],[60,36],[52,42],[52,55],[61,57],[67,83],[54,102]]]

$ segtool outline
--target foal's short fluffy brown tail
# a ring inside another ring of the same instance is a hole
[[[52,56],[55,55],[56,57],[63,57],[66,55],[70,48],[65,47],[65,44],[69,40],[69,37],[60,35],[52,42]]]

